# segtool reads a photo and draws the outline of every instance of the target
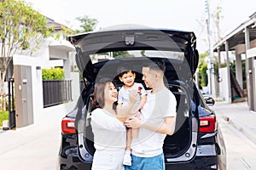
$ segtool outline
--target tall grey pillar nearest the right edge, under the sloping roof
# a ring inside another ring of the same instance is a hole
[[[250,35],[249,35],[249,29],[245,28],[245,45],[246,45],[246,51],[250,48]],[[247,53],[246,53],[247,55]],[[248,107],[250,111],[255,111],[254,105],[253,105],[253,98],[255,95],[253,95],[253,59],[248,58],[246,59],[246,73],[247,73],[247,102]]]

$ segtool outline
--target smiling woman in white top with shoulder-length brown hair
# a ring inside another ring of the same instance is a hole
[[[96,148],[92,163],[93,170],[124,169],[126,127],[123,122],[136,103],[138,94],[131,93],[129,105],[119,111],[119,114],[113,109],[117,96],[118,91],[110,79],[102,78],[96,82],[94,89],[96,110],[91,113],[91,127]]]

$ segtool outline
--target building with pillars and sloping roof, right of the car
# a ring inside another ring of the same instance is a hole
[[[217,42],[213,51],[218,53],[218,63],[220,63],[221,57],[224,57],[227,65],[230,65],[230,52],[235,53],[237,84],[242,89],[242,82],[246,81],[249,110],[256,111],[256,13],[249,16],[249,20],[241,23],[234,31]],[[243,58],[246,61],[246,80],[242,78]],[[221,80],[218,83],[219,97],[232,102],[230,69],[220,68],[219,70],[219,80]]]

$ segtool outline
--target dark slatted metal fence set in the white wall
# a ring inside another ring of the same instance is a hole
[[[44,107],[59,105],[72,100],[71,80],[44,80]]]

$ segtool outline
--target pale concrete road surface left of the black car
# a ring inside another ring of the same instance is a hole
[[[55,170],[65,109],[49,112],[42,122],[0,131],[0,169]]]

